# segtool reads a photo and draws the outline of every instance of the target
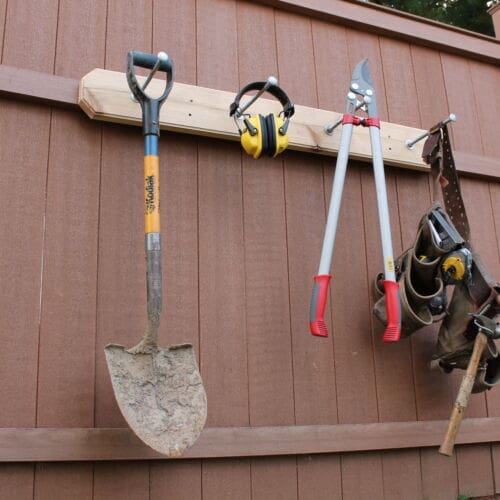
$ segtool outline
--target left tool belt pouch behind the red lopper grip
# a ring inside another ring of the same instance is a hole
[[[435,210],[440,210],[447,218],[438,204],[433,205],[419,222],[415,243],[395,262],[402,337],[408,337],[431,325],[434,322],[433,316],[440,314],[445,307],[446,295],[440,277],[440,262],[444,251],[434,242],[428,223],[431,212]],[[382,280],[383,275],[379,274],[375,281],[376,302],[373,314],[385,325],[387,317]]]

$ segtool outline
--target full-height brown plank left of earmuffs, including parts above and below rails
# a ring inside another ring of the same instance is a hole
[[[238,89],[234,0],[197,0],[198,85]],[[229,103],[228,103],[229,106]],[[241,153],[237,144],[198,146],[201,370],[207,425],[248,425],[248,366]],[[203,497],[249,498],[249,460],[205,461]]]

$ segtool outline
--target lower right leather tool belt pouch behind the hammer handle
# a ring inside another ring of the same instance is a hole
[[[492,290],[489,302],[495,300],[496,290]],[[466,284],[458,284],[453,291],[448,313],[444,318],[438,333],[436,352],[433,361],[449,373],[455,368],[466,370],[469,364],[474,339],[471,314],[476,312]],[[478,393],[491,389],[500,382],[500,356],[495,341],[488,339],[487,346],[481,357],[472,392]]]

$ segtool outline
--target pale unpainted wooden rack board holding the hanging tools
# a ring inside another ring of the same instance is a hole
[[[155,91],[160,93],[163,87],[161,81],[152,80],[148,92],[155,95]],[[236,126],[229,117],[229,105],[235,94],[236,91],[231,93],[176,82],[162,107],[160,126],[174,132],[237,141],[239,135]],[[141,124],[141,110],[130,97],[124,73],[103,69],[91,71],[80,81],[78,102],[92,119]],[[252,105],[252,113],[278,113],[280,110],[281,106],[277,101],[268,99],[259,99]],[[330,136],[323,128],[341,117],[341,113],[296,105],[289,128],[289,148],[336,155],[340,133],[337,130]],[[421,159],[423,141],[412,150],[405,145],[406,139],[413,139],[424,130],[382,122],[380,132],[384,162],[387,165],[428,170]],[[369,132],[364,127],[354,129],[350,156],[356,160],[371,162]]]

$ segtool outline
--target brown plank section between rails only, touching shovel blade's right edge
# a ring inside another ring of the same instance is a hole
[[[207,425],[248,425],[241,156],[199,145],[201,367]]]

